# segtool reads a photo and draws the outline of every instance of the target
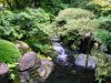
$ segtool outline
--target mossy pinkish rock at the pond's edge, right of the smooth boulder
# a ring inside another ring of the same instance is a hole
[[[30,71],[30,76],[36,82],[44,82],[53,70],[53,62],[48,59],[40,59],[40,68],[34,71]]]

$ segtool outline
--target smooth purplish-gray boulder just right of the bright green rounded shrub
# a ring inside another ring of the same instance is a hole
[[[39,59],[34,52],[27,52],[19,61],[19,70],[24,71],[31,68],[37,66],[39,68]]]

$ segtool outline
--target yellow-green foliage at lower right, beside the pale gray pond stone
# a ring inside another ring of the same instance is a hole
[[[99,53],[97,64],[97,79],[103,79],[105,76],[111,76],[111,56]]]

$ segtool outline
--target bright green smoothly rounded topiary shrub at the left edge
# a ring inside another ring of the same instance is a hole
[[[20,51],[12,42],[0,40],[0,62],[14,63],[20,55]]]

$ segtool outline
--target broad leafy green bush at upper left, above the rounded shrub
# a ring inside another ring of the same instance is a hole
[[[42,9],[26,9],[0,12],[0,37],[8,40],[43,34],[42,28],[50,23],[50,17]],[[10,38],[11,37],[11,38]]]

